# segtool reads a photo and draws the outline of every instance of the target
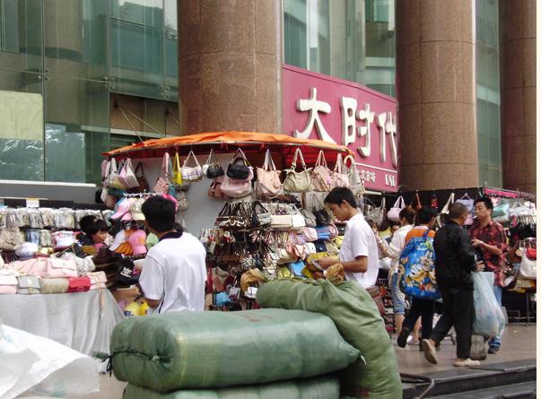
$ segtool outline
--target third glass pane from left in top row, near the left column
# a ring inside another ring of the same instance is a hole
[[[163,1],[111,4],[111,91],[164,98]]]

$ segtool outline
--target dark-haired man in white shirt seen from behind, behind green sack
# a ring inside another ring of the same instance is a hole
[[[142,212],[159,242],[149,249],[139,277],[149,314],[203,310],[205,247],[191,234],[175,229],[175,204],[161,196],[147,199]]]

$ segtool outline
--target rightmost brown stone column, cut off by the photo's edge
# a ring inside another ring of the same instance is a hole
[[[536,193],[536,0],[500,1],[503,187]]]

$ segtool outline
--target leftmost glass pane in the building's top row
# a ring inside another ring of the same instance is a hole
[[[0,65],[42,72],[40,0],[0,0]]]

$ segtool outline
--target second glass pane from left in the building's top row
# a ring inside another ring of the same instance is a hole
[[[48,72],[93,80],[108,75],[107,0],[47,0],[44,19]]]

